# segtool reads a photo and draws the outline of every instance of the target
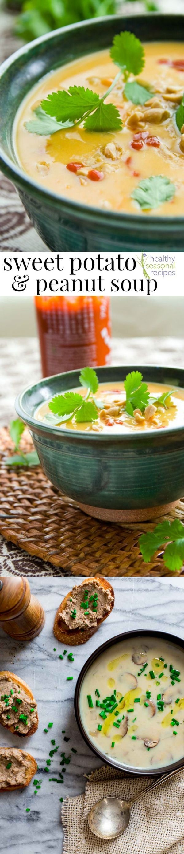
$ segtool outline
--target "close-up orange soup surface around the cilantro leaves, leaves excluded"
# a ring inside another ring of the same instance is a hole
[[[118,70],[107,50],[60,67],[26,97],[16,120],[15,146],[21,166],[37,183],[75,202],[106,210],[183,215],[184,134],[182,150],[182,131],[175,123],[184,91],[183,44],[154,42],[144,49],[145,67],[137,82],[150,88],[150,99],[142,106],[126,100],[122,78],[106,99],[119,110],[123,127],[118,132],[87,132],[73,126],[43,137],[25,126],[34,118],[32,110],[53,91],[81,85],[103,96]],[[136,144],[140,133],[141,148]],[[68,170],[71,163],[79,163],[77,172]],[[94,169],[102,173],[101,178],[89,177]],[[144,212],[131,194],[143,178],[158,175],[175,184],[175,196]]]

